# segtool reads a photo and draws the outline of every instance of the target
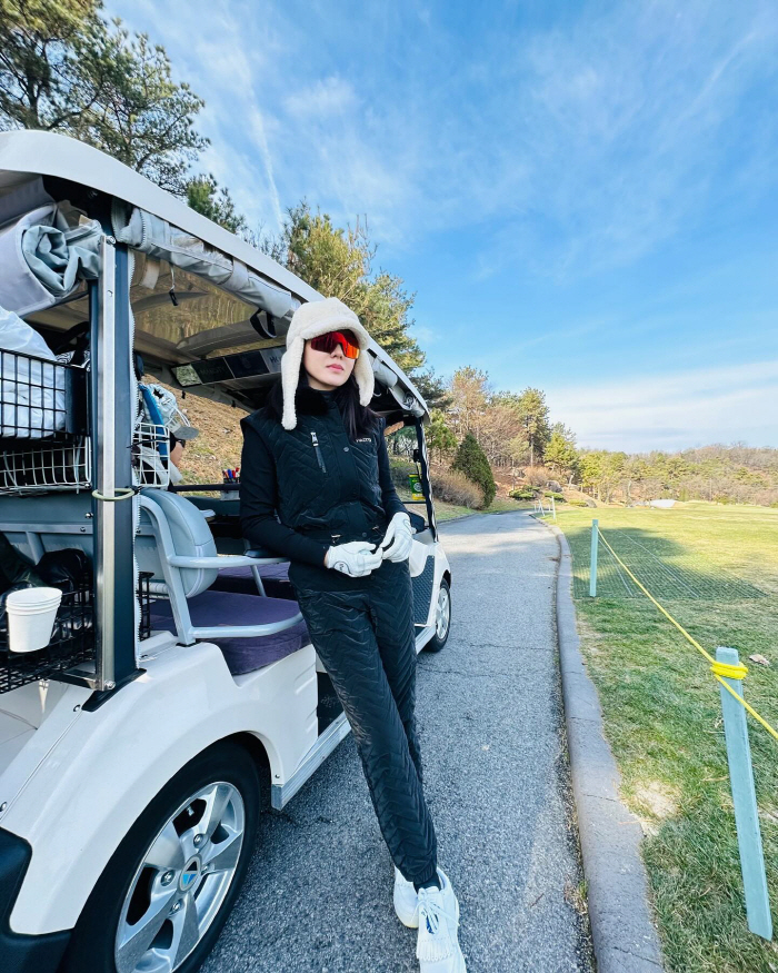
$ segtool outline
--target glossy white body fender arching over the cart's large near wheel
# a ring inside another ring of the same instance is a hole
[[[316,743],[316,706],[311,645],[236,681],[207,643],[151,659],[146,673],[94,712],[73,713],[69,703],[72,718],[60,721],[58,738],[0,817],[0,827],[32,847],[12,931],[72,929],[132,824],[184,764],[217,741],[255,734],[272,782],[286,783]],[[44,732],[46,723],[38,733]],[[13,768],[0,778],[1,790]]]

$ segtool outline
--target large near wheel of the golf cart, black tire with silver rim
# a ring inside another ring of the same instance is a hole
[[[134,823],[92,890],[61,973],[193,973],[246,876],[260,783],[239,744],[187,764]]]

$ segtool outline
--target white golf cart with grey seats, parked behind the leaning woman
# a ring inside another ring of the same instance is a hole
[[[96,149],[0,135],[0,579],[12,562],[24,593],[36,573],[61,592],[43,647],[13,592],[0,612],[6,973],[196,970],[262,803],[282,808],[349,732],[287,566],[248,549],[233,483],[170,488],[149,395],[261,407],[291,315],[319,299]],[[427,407],[368,354],[372,408],[417,436],[417,647],[437,651]]]

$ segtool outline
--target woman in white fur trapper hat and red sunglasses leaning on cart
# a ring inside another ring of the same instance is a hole
[[[410,518],[369,408],[368,334],[337,298],[292,318],[281,381],[242,420],[243,536],[291,562],[300,610],[357,742],[421,973],[465,973],[459,904],[437,866],[413,716]]]

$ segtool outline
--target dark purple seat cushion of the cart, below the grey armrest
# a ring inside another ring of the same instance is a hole
[[[226,625],[267,625],[271,622],[291,618],[299,610],[297,602],[261,598],[259,595],[236,595],[230,592],[215,592],[212,589],[189,598],[189,614],[196,628],[213,628]],[[167,598],[151,603],[151,627],[176,632],[173,613]],[[275,635],[209,641],[219,646],[232,675],[239,676],[291,655],[303,645],[308,645],[310,638],[306,623],[298,622],[291,628],[285,628]]]

